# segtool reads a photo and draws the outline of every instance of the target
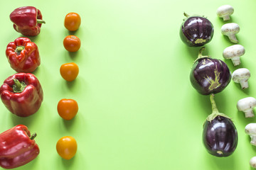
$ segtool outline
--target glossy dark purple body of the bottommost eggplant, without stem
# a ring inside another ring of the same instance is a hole
[[[203,145],[216,157],[228,157],[238,146],[238,131],[232,120],[221,115],[203,125]]]

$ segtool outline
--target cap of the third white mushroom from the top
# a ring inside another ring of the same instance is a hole
[[[240,57],[245,55],[245,47],[242,45],[231,45],[223,50],[223,57],[225,59],[231,59],[233,57]]]

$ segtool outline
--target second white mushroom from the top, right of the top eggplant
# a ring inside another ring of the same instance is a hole
[[[235,34],[239,33],[240,27],[237,23],[226,23],[221,27],[221,33],[227,35],[231,42],[238,43]]]

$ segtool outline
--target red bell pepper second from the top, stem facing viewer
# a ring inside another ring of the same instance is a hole
[[[6,47],[6,57],[16,72],[33,72],[41,63],[36,43],[17,38]]]

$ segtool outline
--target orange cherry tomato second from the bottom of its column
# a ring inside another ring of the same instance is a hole
[[[73,99],[63,98],[58,102],[58,114],[65,120],[71,120],[78,113],[78,103]]]

